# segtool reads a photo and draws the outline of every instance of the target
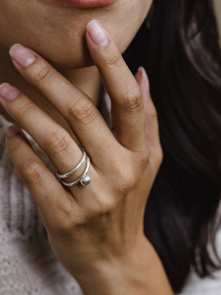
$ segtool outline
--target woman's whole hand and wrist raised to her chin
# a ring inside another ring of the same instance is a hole
[[[86,40],[112,100],[112,130],[90,98],[39,55],[22,45],[14,45],[10,54],[86,150],[91,183],[64,187],[16,127],[7,132],[8,153],[41,209],[53,251],[85,294],[172,294],[143,232],[146,201],[162,161],[147,76],[141,69],[134,78],[98,22],[89,23]],[[6,111],[60,173],[79,162],[82,152],[69,133],[27,96],[6,83],[0,95]],[[73,181],[77,172],[65,180]]]

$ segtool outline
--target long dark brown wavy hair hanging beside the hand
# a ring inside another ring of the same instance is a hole
[[[133,73],[140,65],[146,68],[158,113],[164,160],[147,202],[144,228],[179,293],[191,265],[204,277],[221,264],[215,249],[221,197],[221,52],[212,1],[154,0],[123,58]]]

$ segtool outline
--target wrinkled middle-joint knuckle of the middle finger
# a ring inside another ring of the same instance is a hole
[[[85,124],[92,123],[97,118],[97,109],[89,100],[77,100],[68,108],[68,114],[75,122]]]

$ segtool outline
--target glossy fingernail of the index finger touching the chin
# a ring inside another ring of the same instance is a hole
[[[99,47],[105,47],[110,42],[105,29],[96,19],[93,19],[88,23],[87,31],[91,40]]]

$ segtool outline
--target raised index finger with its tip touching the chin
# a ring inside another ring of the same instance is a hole
[[[125,147],[137,150],[145,142],[141,89],[116,44],[95,19],[87,25],[86,40],[112,100],[113,131],[117,140]]]

